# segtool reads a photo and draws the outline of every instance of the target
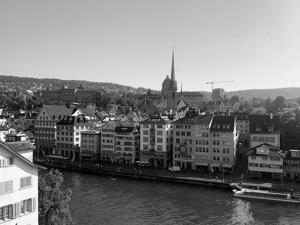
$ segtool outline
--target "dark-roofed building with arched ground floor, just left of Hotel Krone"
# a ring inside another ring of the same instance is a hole
[[[56,123],[56,155],[79,158],[81,132],[95,126],[83,115],[67,116]]]

